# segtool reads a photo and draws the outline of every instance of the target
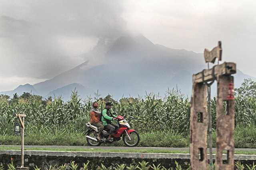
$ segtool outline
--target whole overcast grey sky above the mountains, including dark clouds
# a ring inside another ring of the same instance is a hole
[[[98,38],[124,34],[198,53],[221,40],[223,60],[256,77],[255,9],[255,0],[1,0],[0,91],[71,69]]]

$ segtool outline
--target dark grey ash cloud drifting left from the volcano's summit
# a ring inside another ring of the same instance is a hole
[[[98,38],[124,32],[120,1],[3,1],[0,76],[51,77],[84,61]]]

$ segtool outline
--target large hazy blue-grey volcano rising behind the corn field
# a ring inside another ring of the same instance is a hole
[[[164,95],[168,88],[178,87],[189,96],[192,74],[206,69],[202,53],[154,44],[141,35],[122,36],[117,40],[101,38],[94,49],[81,56],[86,58],[84,63],[34,84],[38,94],[62,95],[68,99],[70,91],[77,87],[83,98],[99,91],[102,96],[110,94],[119,99],[145,92]],[[236,87],[249,77],[238,70]],[[212,93],[216,93],[216,87],[212,88]]]

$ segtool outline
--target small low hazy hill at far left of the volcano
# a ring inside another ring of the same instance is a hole
[[[8,96],[12,97],[15,93],[17,93],[17,95],[20,96],[24,92],[32,93],[32,94],[35,94],[35,95],[38,94],[38,92],[33,87],[33,85],[30,85],[30,84],[19,85],[16,89],[14,89],[12,91],[2,91],[2,92],[0,92],[0,94],[8,95]]]

